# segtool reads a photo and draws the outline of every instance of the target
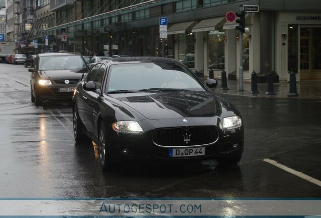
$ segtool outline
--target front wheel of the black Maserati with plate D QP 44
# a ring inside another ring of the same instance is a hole
[[[99,135],[98,135],[98,152],[100,165],[104,171],[111,170],[111,162],[108,153],[107,145],[107,131],[103,122],[99,125]]]

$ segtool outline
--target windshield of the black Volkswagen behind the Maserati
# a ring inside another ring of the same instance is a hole
[[[39,70],[76,70],[86,68],[80,56],[46,56],[39,59]]]

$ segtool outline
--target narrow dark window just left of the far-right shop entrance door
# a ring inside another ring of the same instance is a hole
[[[291,24],[288,28],[288,71],[298,71],[298,25]]]

